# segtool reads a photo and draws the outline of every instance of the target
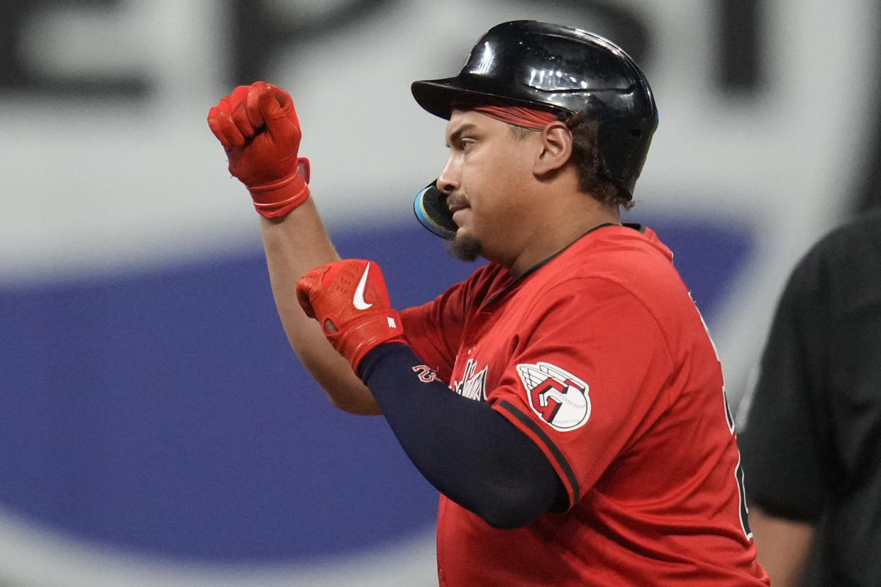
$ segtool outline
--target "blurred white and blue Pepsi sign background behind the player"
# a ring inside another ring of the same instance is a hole
[[[437,584],[437,494],[300,368],[205,117],[238,84],[291,92],[340,253],[415,305],[474,266],[413,217],[446,149],[409,84],[504,20],[646,70],[626,221],[673,249],[737,410],[789,269],[877,202],[877,3],[537,4],[0,4],[0,584]]]

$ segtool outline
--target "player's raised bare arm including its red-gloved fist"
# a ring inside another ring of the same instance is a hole
[[[309,197],[309,164],[298,158],[302,135],[291,96],[264,82],[241,85],[211,108],[208,124],[226,150],[229,171],[248,187],[263,216],[272,294],[300,363],[334,406],[352,414],[380,414],[374,396],[297,303],[300,276],[339,256]]]

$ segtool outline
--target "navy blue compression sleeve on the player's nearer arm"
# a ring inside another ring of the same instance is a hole
[[[403,450],[443,495],[497,528],[528,525],[566,505],[550,461],[514,424],[484,401],[440,381],[423,383],[422,361],[403,344],[382,344],[360,364]]]

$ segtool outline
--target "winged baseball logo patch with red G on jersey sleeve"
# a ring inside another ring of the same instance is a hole
[[[551,363],[520,363],[517,374],[526,388],[529,407],[553,429],[581,428],[590,417],[589,385]]]

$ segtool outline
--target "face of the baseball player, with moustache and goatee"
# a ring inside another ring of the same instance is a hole
[[[447,126],[449,158],[437,185],[459,229],[450,247],[479,246],[487,259],[507,264],[520,252],[525,234],[523,187],[532,179],[536,138],[518,138],[502,121],[472,111],[455,110]],[[531,135],[531,133],[530,133]],[[468,253],[459,255],[463,258]]]

